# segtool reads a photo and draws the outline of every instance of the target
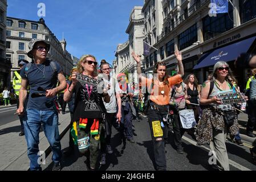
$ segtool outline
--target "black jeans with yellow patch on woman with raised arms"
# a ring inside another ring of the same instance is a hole
[[[149,106],[148,109],[148,122],[149,127],[151,129],[151,137],[153,141],[153,149],[154,149],[154,155],[155,155],[155,162],[156,162],[156,169],[157,171],[166,171],[166,158],[165,158],[165,146],[164,146],[164,140],[156,141],[157,138],[168,138],[168,127],[166,126],[166,123],[163,121],[163,118],[166,118],[166,115],[168,114],[168,111],[159,111],[151,106]],[[153,135],[153,128],[152,128],[152,122],[153,121],[160,121],[164,123],[164,127],[161,127],[163,136],[162,137],[154,137]]]

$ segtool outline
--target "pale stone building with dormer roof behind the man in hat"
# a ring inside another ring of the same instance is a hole
[[[48,40],[51,48],[47,54],[49,60],[57,61],[65,74],[69,74],[73,68],[71,54],[66,50],[67,42],[63,38],[59,41],[44,22],[7,17],[6,20],[6,59],[11,61],[11,79],[14,71],[19,69],[18,60],[25,59],[31,62],[27,56],[29,42],[32,38]],[[11,80],[12,81],[12,80]]]

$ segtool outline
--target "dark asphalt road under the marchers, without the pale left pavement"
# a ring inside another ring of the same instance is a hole
[[[107,154],[106,164],[100,166],[100,171],[155,171],[153,146],[147,118],[141,122],[133,121],[134,139],[136,143],[123,143],[120,134],[113,128],[111,146],[113,154]],[[208,171],[209,167],[209,146],[196,146],[196,142],[190,135],[184,135],[184,154],[178,154],[174,150],[173,133],[169,132],[169,140],[166,144],[166,162],[168,171]],[[68,133],[61,140],[62,148],[68,147]],[[226,142],[230,160],[230,170],[256,170],[255,164],[251,161],[249,147],[238,146]],[[51,170],[51,156],[48,155],[44,170]],[[86,171],[85,156],[79,155],[78,150],[71,156],[63,156],[63,171]]]

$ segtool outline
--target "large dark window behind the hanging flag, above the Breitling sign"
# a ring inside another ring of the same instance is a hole
[[[233,7],[231,6],[229,6],[229,14],[221,13],[213,17],[205,16],[205,18],[202,19],[204,40],[209,40],[232,29],[234,27],[232,19]]]

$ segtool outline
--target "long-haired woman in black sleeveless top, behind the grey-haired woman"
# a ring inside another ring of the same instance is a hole
[[[193,109],[196,122],[199,121],[199,106],[198,99],[200,98],[200,92],[198,91],[198,81],[194,74],[190,74],[185,79],[186,90],[188,97],[186,98],[186,106],[188,109]]]

